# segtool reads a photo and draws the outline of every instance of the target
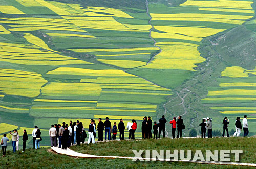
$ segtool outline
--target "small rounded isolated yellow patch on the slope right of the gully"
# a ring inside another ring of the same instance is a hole
[[[245,73],[244,68],[239,66],[226,67],[224,71],[222,71],[221,76],[227,76],[230,78],[240,78],[240,77],[248,77],[248,73]]]

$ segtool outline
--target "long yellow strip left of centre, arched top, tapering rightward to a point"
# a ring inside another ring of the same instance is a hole
[[[122,70],[116,69],[104,69],[104,70],[94,70],[94,69],[83,69],[83,68],[73,68],[73,67],[59,67],[55,70],[49,71],[47,74],[52,75],[80,75],[80,76],[106,76],[106,77],[136,77],[125,73]]]

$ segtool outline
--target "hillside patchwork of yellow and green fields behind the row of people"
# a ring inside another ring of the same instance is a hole
[[[2,0],[0,134],[108,116],[248,115],[256,134],[253,1]],[[170,132],[170,126],[166,126]],[[127,132],[126,132],[127,135]],[[31,145],[31,137],[29,138]],[[21,143],[21,141],[20,141]]]

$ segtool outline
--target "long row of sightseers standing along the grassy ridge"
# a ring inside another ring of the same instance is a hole
[[[165,119],[164,115],[162,118],[159,119],[159,122],[154,122],[152,126],[152,120],[151,117],[144,117],[143,122],[141,125],[141,132],[142,132],[142,138],[143,139],[158,139],[161,136],[161,133],[163,134],[163,137],[165,137],[165,123],[167,120]],[[178,116],[178,119],[176,117],[173,117],[172,120],[169,122],[172,125],[172,137],[175,138],[175,132],[177,128],[177,138],[182,137],[182,130],[185,129],[185,125],[183,122],[183,119],[181,116]],[[229,136],[228,133],[228,124],[229,119],[225,117],[223,119],[223,134],[222,136],[225,136],[225,132],[227,133],[227,137]],[[243,125],[243,126],[242,126]],[[199,124],[201,126],[201,137],[206,138],[206,130],[208,130],[208,138],[212,138],[212,119],[209,117],[203,118],[202,123]],[[244,137],[246,137],[249,133],[248,130],[248,122],[247,122],[247,116],[244,115],[244,119],[242,123],[240,122],[240,117],[237,117],[235,122],[235,128],[236,132],[233,136],[240,136],[241,130],[244,130]],[[135,131],[137,129],[137,122],[136,120],[132,120],[132,122],[128,122],[126,126],[127,130],[129,131],[129,137],[128,139],[135,139]],[[152,129],[153,129],[153,135],[152,136]],[[98,141],[103,141],[103,135],[105,131],[105,139],[104,140],[115,140],[117,133],[119,131],[119,139],[124,139],[124,130],[125,125],[123,123],[123,119],[120,119],[120,122],[117,123],[114,122],[113,126],[111,125],[111,122],[108,117],[105,118],[105,121],[102,122],[102,119],[98,119]],[[12,147],[13,152],[18,151],[18,144],[19,144],[19,134],[16,129],[13,130],[13,133],[10,132],[12,135]],[[94,119],[91,119],[91,122],[88,127],[88,144],[89,143],[95,143],[96,138],[96,123]],[[7,134],[4,134],[4,137],[1,139],[1,146],[3,150],[3,156],[6,155],[6,148],[7,148],[7,142],[10,141],[7,137]],[[60,124],[54,124],[51,125],[51,128],[49,129],[49,136],[51,141],[52,147],[58,147],[61,149],[67,149],[70,146],[73,145],[79,145],[80,143],[84,143],[85,139],[87,138],[87,133],[85,131],[85,128],[82,124],[82,122],[72,122],[70,121],[69,124],[63,122],[62,125]],[[33,137],[33,148],[34,149],[40,149],[40,141],[42,141],[41,132],[40,129],[35,126],[35,128],[32,131],[32,137]],[[26,142],[28,140],[28,134],[26,130],[23,130],[23,151],[26,150]]]

